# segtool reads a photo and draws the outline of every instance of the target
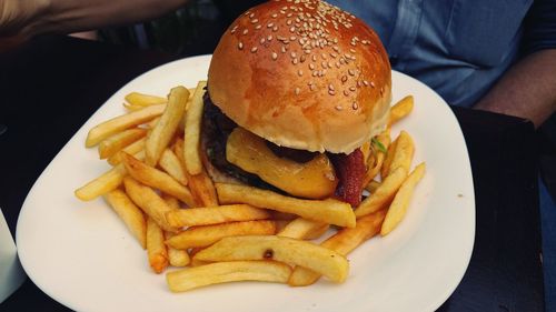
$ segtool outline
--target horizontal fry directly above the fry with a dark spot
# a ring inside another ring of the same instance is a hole
[[[240,235],[272,235],[276,233],[274,221],[244,221],[230,222],[215,225],[202,225],[189,228],[176,234],[166,243],[176,249],[188,249],[196,246],[208,246],[222,238]]]

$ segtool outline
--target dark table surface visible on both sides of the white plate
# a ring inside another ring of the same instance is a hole
[[[68,37],[0,54],[0,208],[16,233],[42,170],[87,119],[138,74],[173,60]],[[453,108],[473,167],[476,238],[467,272],[439,311],[544,311],[535,130],[522,119]],[[533,144],[534,145],[534,144]],[[0,311],[67,311],[31,280]]]

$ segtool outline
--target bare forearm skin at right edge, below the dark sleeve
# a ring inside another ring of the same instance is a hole
[[[474,108],[526,118],[539,127],[556,111],[556,49],[520,60]]]

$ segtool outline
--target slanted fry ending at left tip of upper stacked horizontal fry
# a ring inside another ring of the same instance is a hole
[[[131,177],[123,178],[123,185],[129,198],[166,231],[177,232],[166,220],[166,213],[172,211],[170,207],[151,188],[142,185]]]

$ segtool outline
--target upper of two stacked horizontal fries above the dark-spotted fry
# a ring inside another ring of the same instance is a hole
[[[189,208],[171,211],[166,215],[168,223],[176,228],[254,221],[269,218],[270,213],[268,211],[248,204]]]

